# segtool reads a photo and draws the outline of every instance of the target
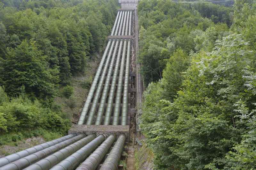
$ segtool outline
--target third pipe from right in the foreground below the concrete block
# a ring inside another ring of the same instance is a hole
[[[83,162],[103,141],[105,136],[99,135],[97,138],[92,140],[89,144],[85,145],[68,158],[61,161],[56,166],[53,166],[51,170],[73,170],[81,162]]]

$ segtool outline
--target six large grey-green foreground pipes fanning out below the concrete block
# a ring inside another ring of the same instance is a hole
[[[0,170],[95,170],[115,141],[100,169],[116,170],[125,138],[73,133],[1,158]]]

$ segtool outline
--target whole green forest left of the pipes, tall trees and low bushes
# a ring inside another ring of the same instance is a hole
[[[71,120],[54,98],[60,88],[68,98],[71,78],[102,53],[117,7],[116,0],[0,1],[0,145],[67,133]]]

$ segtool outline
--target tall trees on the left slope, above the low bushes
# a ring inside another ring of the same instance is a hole
[[[31,98],[42,99],[51,98],[59,84],[69,84],[72,75],[84,73],[88,56],[103,50],[117,9],[114,0],[3,3],[0,85],[11,96],[24,85]]]

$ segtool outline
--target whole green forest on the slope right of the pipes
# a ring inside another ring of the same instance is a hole
[[[256,168],[256,1],[142,0],[140,128],[154,169]]]

